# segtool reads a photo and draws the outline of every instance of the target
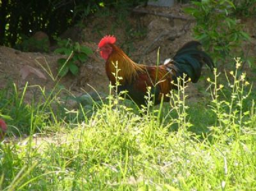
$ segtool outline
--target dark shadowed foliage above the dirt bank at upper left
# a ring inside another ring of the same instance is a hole
[[[104,8],[124,10],[145,0],[132,1],[0,1],[0,45],[13,46],[24,36],[36,31],[44,31],[50,36],[58,36],[79,20]]]

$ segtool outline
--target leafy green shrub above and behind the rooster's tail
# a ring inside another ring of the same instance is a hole
[[[192,1],[195,5],[186,8],[186,13],[196,19],[194,28],[195,38],[200,40],[207,49],[214,62],[225,61],[230,57],[230,50],[241,50],[241,42],[249,40],[250,36],[243,31],[243,25],[230,17],[235,10],[231,1]]]

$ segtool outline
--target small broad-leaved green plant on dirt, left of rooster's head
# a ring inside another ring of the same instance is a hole
[[[60,40],[60,38],[58,38],[57,40],[60,48],[54,50],[54,52],[66,56],[66,58],[58,59],[59,75],[63,77],[68,73],[68,71],[73,75],[77,75],[79,70],[77,63],[83,63],[86,61],[88,55],[92,54],[92,50],[80,45],[78,42],[72,42],[70,39]]]

